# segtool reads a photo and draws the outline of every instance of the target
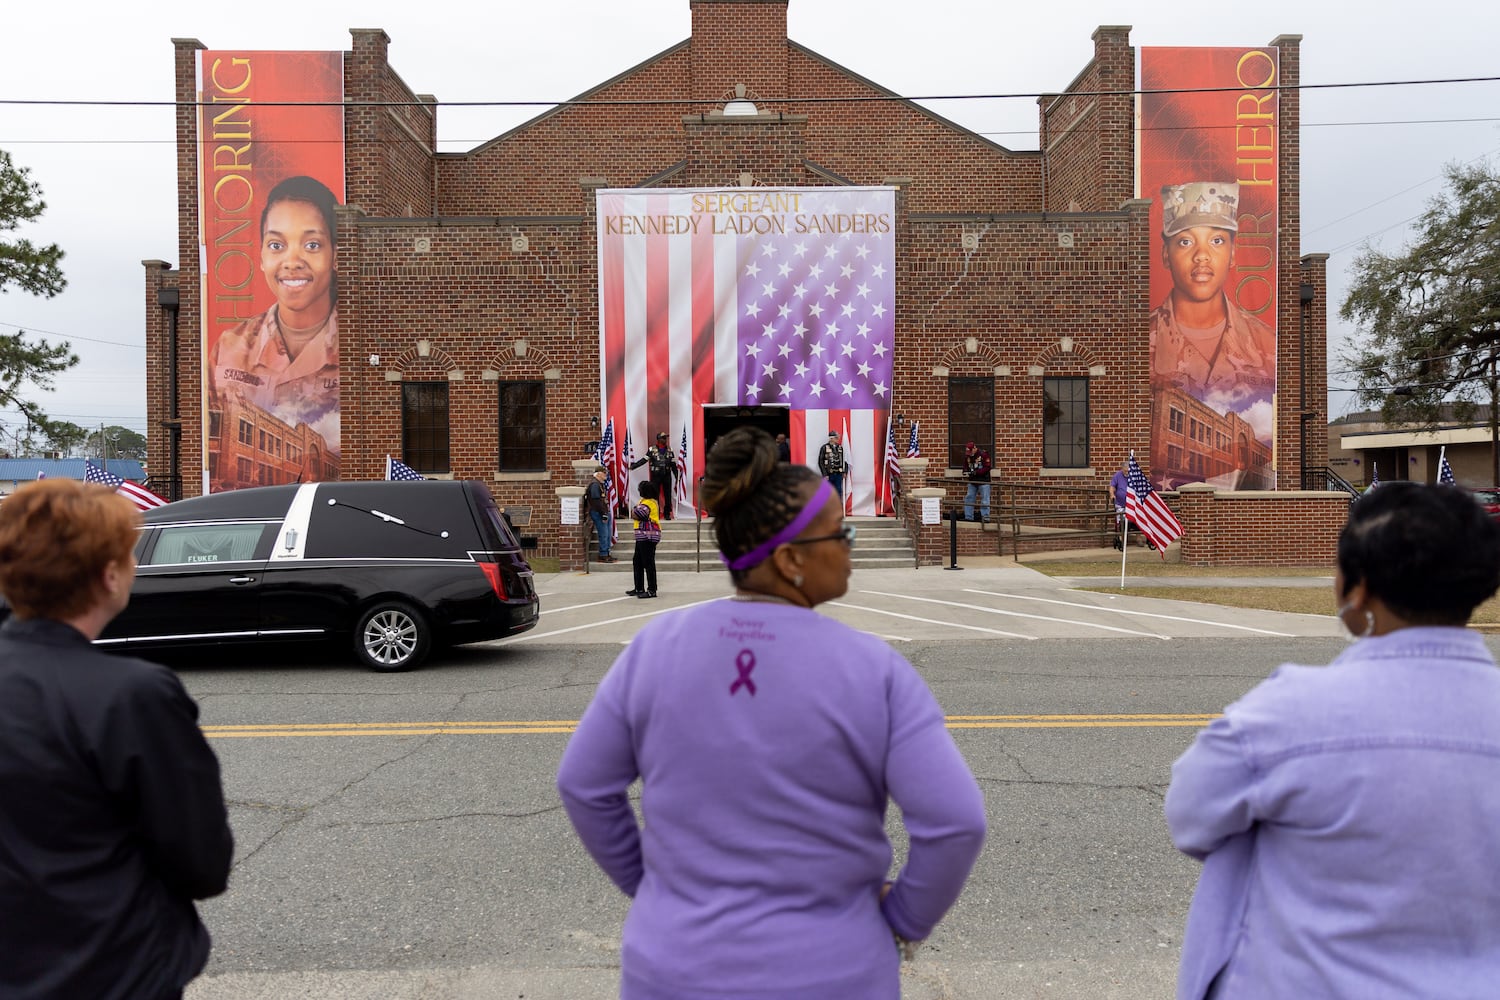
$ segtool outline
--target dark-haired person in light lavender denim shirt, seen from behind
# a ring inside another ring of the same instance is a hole
[[[1172,769],[1203,861],[1178,997],[1500,994],[1500,670],[1464,628],[1500,526],[1450,486],[1390,483],[1338,540],[1326,667],[1278,667]]]

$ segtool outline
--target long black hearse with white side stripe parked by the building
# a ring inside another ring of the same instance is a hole
[[[370,670],[537,624],[531,567],[476,481],[308,483],[146,513],[130,604],[96,640],[129,649],[336,640]]]

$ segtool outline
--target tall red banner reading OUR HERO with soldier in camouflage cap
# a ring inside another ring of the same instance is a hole
[[[1142,48],[1152,201],[1150,478],[1275,487],[1280,60]]]

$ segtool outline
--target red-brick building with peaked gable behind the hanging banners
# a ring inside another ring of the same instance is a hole
[[[1040,150],[1012,151],[788,39],[788,0],[688,3],[692,37],[466,153],[435,151],[440,103],[388,64],[386,33],[351,31],[342,477],[378,478],[396,454],[483,480],[501,505],[546,511],[531,529],[555,552],[555,489],[574,484],[570,463],[598,436],[596,190],[862,184],[897,189],[897,441],[920,420],[934,472],[975,438],[1002,480],[1102,490],[1154,430],[1160,235],[1136,198],[1130,28],[1094,33],[1094,58],[1038,100]],[[1274,472],[1296,487],[1326,463],[1324,258],[1299,259],[1299,39],[1270,45],[1282,85]],[[176,40],[183,262],[198,259],[201,48]],[[178,478],[158,484],[182,495],[200,492],[208,453],[200,300],[195,268],[146,261],[150,468],[171,469]],[[1077,447],[1059,463],[1044,411],[1062,396]],[[1222,423],[1204,433],[1228,453]],[[268,459],[236,460],[315,460],[316,439],[292,427],[256,426],[254,442],[273,430]]]

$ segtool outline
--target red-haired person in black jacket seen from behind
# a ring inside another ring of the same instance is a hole
[[[164,1000],[208,961],[194,900],[234,838],[177,676],[90,642],[124,610],[140,514],[104,486],[0,504],[0,997]]]

